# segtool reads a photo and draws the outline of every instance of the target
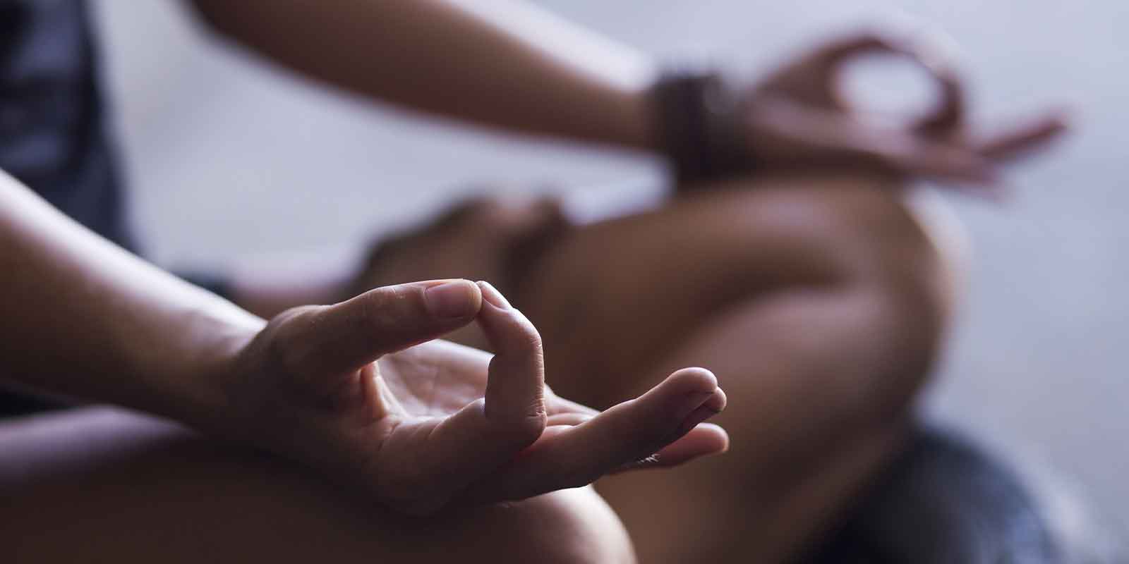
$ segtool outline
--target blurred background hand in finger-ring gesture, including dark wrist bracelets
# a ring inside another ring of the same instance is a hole
[[[895,55],[936,82],[939,103],[912,123],[852,108],[844,63]],[[824,43],[762,80],[733,88],[717,76],[669,77],[655,88],[659,130],[682,187],[736,174],[872,170],[990,191],[998,168],[1058,136],[1061,112],[1043,112],[990,133],[968,123],[963,85],[942,50],[925,41],[857,34]]]

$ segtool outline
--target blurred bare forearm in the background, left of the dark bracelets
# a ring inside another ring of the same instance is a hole
[[[218,30],[383,102],[511,131],[654,146],[646,58],[522,2],[194,0]]]

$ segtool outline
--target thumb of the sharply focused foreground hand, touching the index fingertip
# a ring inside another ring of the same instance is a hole
[[[469,280],[432,280],[369,290],[341,303],[299,314],[306,373],[341,374],[471,323],[482,307]]]

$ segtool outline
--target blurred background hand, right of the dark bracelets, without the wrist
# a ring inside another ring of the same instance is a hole
[[[887,53],[920,64],[940,88],[940,105],[914,124],[891,125],[851,111],[839,91],[843,62]],[[737,118],[759,170],[851,167],[929,177],[990,190],[999,165],[1058,136],[1065,117],[1047,112],[1024,124],[973,134],[956,74],[925,45],[875,34],[830,42],[746,89]]]

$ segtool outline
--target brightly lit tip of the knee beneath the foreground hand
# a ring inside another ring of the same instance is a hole
[[[634,550],[619,517],[588,487],[562,490],[498,506],[507,522],[489,527],[498,559],[546,564],[627,564]],[[505,530],[508,529],[508,530]]]

